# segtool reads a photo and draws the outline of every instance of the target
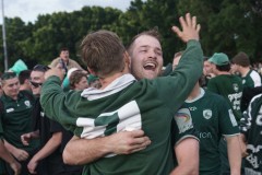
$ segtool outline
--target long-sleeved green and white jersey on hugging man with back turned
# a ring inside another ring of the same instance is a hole
[[[57,77],[44,83],[40,102],[45,113],[74,135],[92,139],[134,128],[143,129],[150,137],[152,143],[145,150],[129,155],[110,154],[90,163],[90,174],[170,173],[171,120],[202,73],[199,42],[190,40],[187,46],[176,71],[168,77],[135,81],[131,74],[124,74],[104,90],[86,89],[82,94],[63,93]]]

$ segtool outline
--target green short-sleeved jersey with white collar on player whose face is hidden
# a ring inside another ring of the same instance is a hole
[[[222,136],[239,135],[238,124],[226,100],[212,92],[201,93],[186,101],[177,118],[191,116],[200,139],[200,175],[218,175],[221,159],[218,144]]]

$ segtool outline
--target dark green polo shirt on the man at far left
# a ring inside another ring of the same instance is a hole
[[[29,98],[28,95],[32,97]],[[21,91],[16,101],[10,96],[0,97],[3,104],[3,112],[0,117],[0,128],[3,130],[3,138],[12,145],[32,151],[38,147],[38,140],[32,140],[29,145],[24,145],[21,136],[33,131],[32,112],[34,107],[34,96],[29,92]]]

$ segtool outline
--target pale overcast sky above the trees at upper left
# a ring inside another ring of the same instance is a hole
[[[24,22],[35,22],[38,14],[72,12],[84,5],[112,7],[126,11],[131,0],[4,0],[4,15],[19,16]],[[2,0],[0,1],[2,4]],[[0,14],[2,23],[2,10]]]

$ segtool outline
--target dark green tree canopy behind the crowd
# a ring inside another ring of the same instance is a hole
[[[176,51],[184,49],[172,25],[190,12],[201,24],[201,44],[205,56],[225,52],[231,58],[238,51],[251,60],[262,61],[262,2],[259,0],[133,0],[124,12],[114,8],[83,7],[79,11],[38,15],[35,23],[20,18],[5,18],[9,67],[23,59],[29,68],[48,65],[61,47],[70,49],[70,57],[80,63],[79,46],[92,31],[116,32],[128,45],[138,33],[157,27],[162,34],[165,63]],[[0,30],[1,31],[1,30]],[[2,39],[2,36],[0,36]],[[2,43],[0,49],[3,50]],[[3,71],[3,51],[0,52]]]

